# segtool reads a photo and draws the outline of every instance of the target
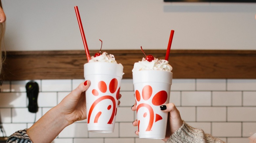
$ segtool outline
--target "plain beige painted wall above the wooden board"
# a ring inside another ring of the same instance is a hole
[[[78,6],[90,50],[256,50],[255,3],[163,0],[2,0],[8,51],[83,50]]]

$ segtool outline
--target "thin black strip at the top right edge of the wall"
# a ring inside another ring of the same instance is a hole
[[[164,2],[256,3],[256,0],[163,0]]]

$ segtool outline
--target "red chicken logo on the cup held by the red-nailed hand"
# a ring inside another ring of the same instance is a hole
[[[110,93],[115,93],[117,91],[117,94],[116,94],[116,99],[118,100],[118,96],[119,96],[119,91],[120,91],[120,87],[118,88],[117,90],[117,85],[118,85],[118,81],[116,78],[113,78],[110,83],[109,83],[109,88],[107,88],[107,84],[104,82],[104,81],[100,81],[98,82],[98,90],[101,92],[101,93],[106,93],[107,92],[107,89],[109,89]],[[98,92],[97,89],[93,89],[92,90],[92,94],[94,96],[99,96],[99,92]],[[112,124],[113,122],[113,119],[114,117],[117,115],[117,105],[116,105],[116,99],[113,97],[113,96],[110,96],[110,95],[104,95],[104,96],[101,96],[99,97],[91,106],[90,110],[89,110],[89,114],[88,114],[88,119],[87,119],[87,123],[89,124],[90,123],[90,119],[91,119],[91,114],[95,108],[95,106],[100,103],[101,101],[103,100],[111,100],[112,103],[113,103],[113,110],[112,110],[112,115],[108,121],[108,124]],[[110,110],[112,107],[112,105],[108,105],[107,106],[107,109]],[[94,123],[97,123],[98,122],[98,119],[101,115],[101,111],[98,112],[95,116],[95,119],[94,119]]]

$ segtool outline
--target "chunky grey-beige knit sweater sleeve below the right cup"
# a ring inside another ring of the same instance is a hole
[[[225,143],[224,141],[205,134],[203,130],[193,128],[183,122],[182,126],[174,132],[166,143]]]

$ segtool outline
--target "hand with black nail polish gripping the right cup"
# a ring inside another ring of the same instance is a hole
[[[160,109],[163,112],[168,112],[166,135],[165,135],[165,138],[162,139],[163,141],[166,142],[168,138],[170,138],[170,136],[182,126],[183,121],[181,119],[179,110],[176,108],[176,106],[173,103],[161,105]],[[136,111],[135,104],[132,106],[132,110]],[[133,121],[132,124],[133,126],[138,126],[138,121],[135,120]],[[139,135],[139,131],[136,131],[135,134]]]

